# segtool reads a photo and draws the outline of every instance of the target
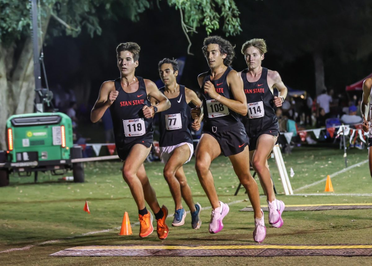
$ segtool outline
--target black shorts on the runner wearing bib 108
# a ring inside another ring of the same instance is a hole
[[[246,130],[240,121],[224,128],[205,125],[202,133],[213,136],[226,157],[241,153],[249,143]]]

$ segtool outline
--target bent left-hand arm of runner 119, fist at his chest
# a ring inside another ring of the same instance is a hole
[[[118,95],[119,92],[116,91],[112,81],[103,82],[99,89],[98,99],[90,112],[90,120],[93,123],[99,121]]]

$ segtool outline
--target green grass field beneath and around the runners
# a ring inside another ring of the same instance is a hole
[[[295,148],[283,155],[295,193],[324,193],[325,182],[307,189],[296,189],[327,177],[344,168],[343,151],[336,148]],[[348,166],[367,159],[366,150],[348,150]],[[194,201],[209,207],[194,170],[195,161],[184,166]],[[318,203],[371,203],[372,180],[368,164],[352,168],[332,178],[334,193],[329,196],[284,196],[274,159],[269,159],[278,199],[286,205]],[[180,228],[170,227],[169,237],[160,241],[156,232],[145,239],[138,237],[138,211],[130,190],[121,177],[121,163],[92,162],[85,164],[85,183],[58,181],[58,176],[40,174],[38,184],[33,177],[11,175],[10,186],[0,188],[0,265],[370,265],[368,257],[48,257],[49,254],[75,246],[119,244],[253,244],[253,212],[239,212],[250,205],[244,189],[238,196],[237,177],[230,161],[220,156],[211,165],[215,186],[223,202],[230,205],[224,219],[224,229],[209,234],[211,210],[201,212],[202,226],[193,230],[190,215]],[[160,205],[174,209],[160,162],[146,163],[145,168]],[[67,175],[72,175],[69,173]],[[259,185],[260,187],[260,185]],[[266,205],[262,189],[261,203]],[[346,194],[337,196],[336,194]],[[349,195],[348,195],[349,194]],[[364,196],[350,194],[366,194]],[[83,211],[88,200],[91,214]],[[184,204],[184,206],[186,206]],[[133,235],[119,236],[124,212],[129,213]],[[264,244],[372,244],[372,212],[364,210],[326,210],[284,212],[282,228],[271,228],[267,223]],[[167,219],[170,225],[172,218]],[[155,225],[155,223],[154,223]],[[156,226],[156,225],[155,225]],[[99,232],[97,232],[99,231]],[[95,232],[87,234],[89,232]]]

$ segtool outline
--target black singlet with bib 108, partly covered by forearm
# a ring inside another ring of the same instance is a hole
[[[229,127],[239,121],[239,115],[237,113],[230,110],[217,100],[212,99],[209,97],[208,93],[204,92],[204,83],[211,81],[219,95],[222,95],[228,99],[234,99],[234,95],[232,95],[231,90],[227,85],[227,74],[231,70],[232,67],[229,66],[219,79],[211,80],[211,70],[209,69],[203,80],[201,94],[203,96],[203,113],[204,119],[206,120],[206,129],[211,127]]]

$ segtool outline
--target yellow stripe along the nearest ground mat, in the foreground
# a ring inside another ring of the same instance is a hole
[[[67,248],[67,250],[208,250],[208,249],[266,249],[266,248],[277,248],[277,249],[353,249],[353,248],[372,248],[372,245],[339,245],[339,246],[290,246],[290,245],[218,245],[218,246],[87,246],[87,247],[73,247]]]

